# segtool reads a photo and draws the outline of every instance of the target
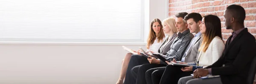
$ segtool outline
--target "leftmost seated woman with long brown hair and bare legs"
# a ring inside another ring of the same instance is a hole
[[[146,45],[147,52],[148,51],[158,52],[158,49],[160,48],[161,44],[163,43],[165,35],[163,33],[163,25],[161,25],[161,24],[162,23],[159,19],[154,19],[151,22],[150,29],[149,29],[149,34],[148,34],[148,39],[147,39],[147,45]],[[137,51],[138,55],[135,55],[135,54],[134,55],[136,57],[143,57],[143,56],[140,55],[139,52],[140,51],[138,50]],[[116,84],[123,84],[124,78],[129,79],[125,76],[127,75],[127,73],[130,73],[131,69],[128,69],[128,64],[130,62],[130,59],[131,59],[132,55],[133,54],[131,54],[131,53],[127,53],[125,55],[125,58],[122,61],[122,68],[121,68],[120,76],[119,76],[119,79],[116,82]],[[145,59],[147,60],[147,58],[145,58]],[[129,70],[129,71],[127,72],[127,70]]]

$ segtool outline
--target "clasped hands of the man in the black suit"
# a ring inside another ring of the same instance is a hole
[[[194,71],[194,77],[193,78],[200,78],[203,76],[207,76],[209,74],[208,69],[204,68],[198,68]]]

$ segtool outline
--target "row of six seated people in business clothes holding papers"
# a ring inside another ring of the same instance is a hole
[[[256,40],[244,28],[245,11],[230,5],[224,12],[226,29],[234,32],[226,45],[222,41],[221,20],[215,15],[181,12],[150,24],[147,52],[160,53],[167,60],[189,65],[168,65],[154,57],[128,53],[116,84],[245,84],[250,64],[256,56]],[[178,32],[178,34],[177,34]],[[168,34],[165,38],[164,33]],[[195,36],[192,34],[195,33]],[[193,76],[191,76],[193,74]],[[220,75],[212,79],[199,79]],[[124,80],[125,79],[125,80]],[[124,81],[124,82],[123,82]]]

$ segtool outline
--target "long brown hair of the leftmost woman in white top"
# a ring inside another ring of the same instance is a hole
[[[160,32],[156,35],[156,33],[153,30],[153,24],[154,22],[158,22],[161,26]],[[148,39],[147,39],[147,49],[154,43],[154,40],[156,40],[159,43],[160,41],[163,41],[163,38],[165,38],[165,35],[163,33],[163,25],[162,22],[159,19],[154,19],[150,23],[150,29],[149,29],[149,34],[148,34]]]

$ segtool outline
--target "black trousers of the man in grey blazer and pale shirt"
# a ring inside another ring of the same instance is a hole
[[[159,67],[147,70],[145,73],[147,84],[159,84],[165,68],[166,67]]]

